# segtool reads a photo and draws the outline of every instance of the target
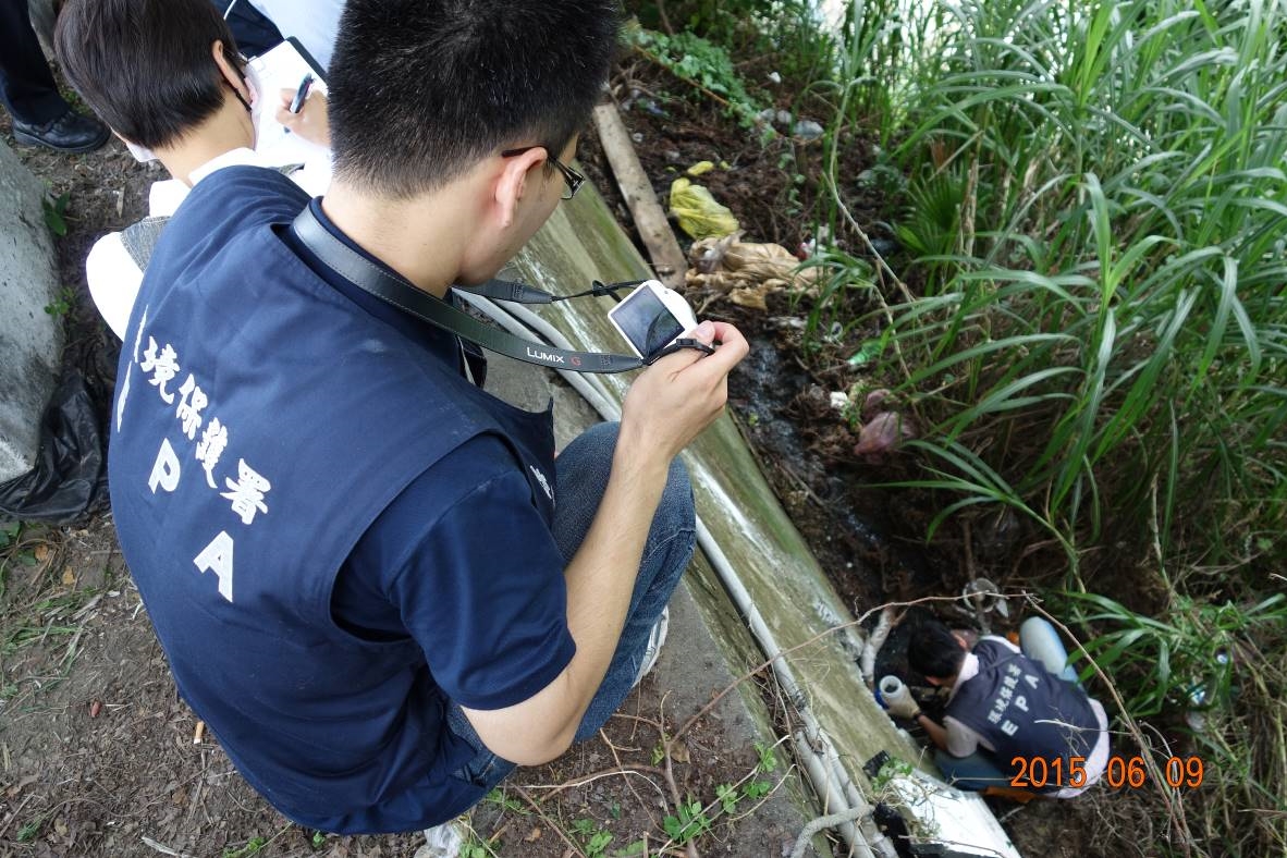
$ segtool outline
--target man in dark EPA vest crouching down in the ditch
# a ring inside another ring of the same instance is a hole
[[[1027,620],[1019,641],[1022,650],[987,635],[969,650],[942,623],[920,624],[907,661],[932,686],[951,689],[943,723],[914,704],[915,711],[894,714],[929,733],[940,749],[934,762],[959,789],[1072,798],[1108,765],[1108,717],[1076,683],[1049,623]]]

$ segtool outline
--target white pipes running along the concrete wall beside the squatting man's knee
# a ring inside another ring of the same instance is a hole
[[[502,309],[498,302],[470,292],[458,291],[457,295],[515,336],[526,336],[530,328],[530,331],[544,337],[552,346],[559,349],[575,347],[557,328],[523,305],[506,301]],[[556,372],[598,412],[600,417],[606,421],[620,419],[620,406],[582,373],[565,369]],[[795,680],[795,674],[792,671],[790,665],[786,664],[786,659],[780,657],[782,648],[777,644],[768,624],[764,623],[759,608],[755,607],[755,602],[750,597],[746,585],[743,584],[732,563],[728,562],[728,557],[719,548],[710,530],[707,529],[700,518],[698,518],[698,544],[701,545],[701,551],[710,561],[710,566],[716,570],[725,589],[728,590],[734,605],[737,606],[737,610],[746,619],[746,625],[750,628],[755,642],[763,650],[764,655],[772,660],[773,675],[777,678],[788,698],[799,711],[804,729],[795,735],[795,754],[803,762],[804,771],[810,776],[810,782],[813,785],[815,792],[822,799],[826,809],[830,810],[834,807],[837,813],[846,814],[849,818],[865,817],[864,830],[869,832],[876,831],[875,825],[870,819],[870,805],[862,800],[858,789],[840,764],[839,755],[835,753],[831,741],[822,731],[822,726],[817,723],[817,718],[810,710],[808,697]],[[839,831],[840,836],[849,844],[852,854],[861,855],[862,858],[875,858],[867,837],[860,834],[852,822],[840,825]],[[884,846],[884,849],[880,849],[880,854],[892,854],[888,839],[882,835],[880,840],[883,841],[880,845]]]

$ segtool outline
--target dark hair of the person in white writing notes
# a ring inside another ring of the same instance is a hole
[[[68,0],[54,48],[76,91],[131,143],[172,144],[224,103],[210,46],[237,42],[210,0]]]

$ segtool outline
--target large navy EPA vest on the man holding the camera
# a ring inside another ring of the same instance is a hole
[[[551,417],[327,286],[275,233],[306,197],[247,170],[193,190],[134,307],[109,452],[121,547],[179,691],[275,807],[346,831],[447,819],[481,796],[423,780],[474,751],[445,729],[414,641],[337,628],[332,584],[391,499],[480,434],[508,446],[548,522]],[[238,183],[277,197],[229,211]],[[346,726],[372,720],[389,747],[350,747]],[[417,808],[417,790],[441,807]]]

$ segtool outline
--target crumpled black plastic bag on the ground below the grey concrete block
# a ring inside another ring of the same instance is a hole
[[[40,419],[36,467],[0,484],[0,517],[69,525],[107,498],[99,415],[76,369],[68,369]]]

